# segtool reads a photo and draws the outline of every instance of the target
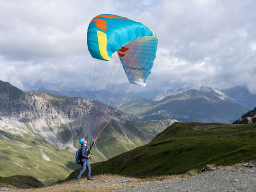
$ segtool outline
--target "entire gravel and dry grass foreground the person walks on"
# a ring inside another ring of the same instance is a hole
[[[255,167],[223,167],[191,177],[147,181],[118,175],[95,176],[93,181],[82,178],[81,182],[69,181],[40,189],[17,190],[18,192],[256,192]],[[15,191],[14,188],[0,188]]]

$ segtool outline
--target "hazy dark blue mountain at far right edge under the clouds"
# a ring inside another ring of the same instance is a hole
[[[247,87],[235,86],[227,89],[221,89],[220,91],[228,95],[230,98],[243,103],[248,109],[256,107],[256,94],[250,93]]]

